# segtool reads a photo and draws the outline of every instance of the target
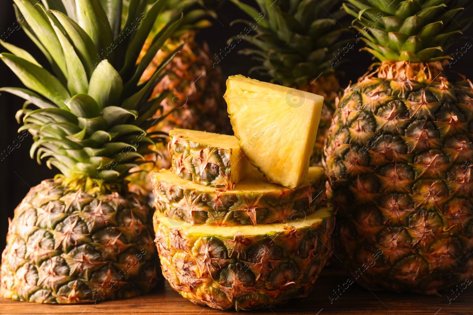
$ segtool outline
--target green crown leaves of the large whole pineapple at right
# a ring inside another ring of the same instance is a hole
[[[346,0],[369,51],[379,60],[433,62],[451,59],[445,51],[472,23],[461,15],[471,0]]]

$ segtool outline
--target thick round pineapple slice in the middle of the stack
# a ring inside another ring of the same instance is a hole
[[[227,191],[181,179],[170,170],[152,172],[150,177],[157,211],[192,225],[286,223],[314,213],[325,199],[320,167],[311,167],[307,181],[292,189],[272,184],[258,172]]]

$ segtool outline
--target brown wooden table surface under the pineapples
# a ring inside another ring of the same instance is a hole
[[[289,303],[271,309],[255,310],[248,314],[314,314],[314,315],[471,315],[473,314],[473,286],[468,286],[457,297],[425,296],[420,294],[397,294],[392,292],[369,291],[358,284],[351,284],[339,298],[333,289],[342,286],[349,276],[341,270],[325,268],[315,282],[312,293],[307,298],[293,299]],[[158,284],[158,289],[148,295],[120,301],[102,302],[95,305],[42,305],[15,302],[0,298],[0,314],[127,314],[127,315],[207,315],[236,314],[235,310],[221,311],[207,306],[197,306],[177,294],[167,281]],[[345,288],[347,286],[345,285]],[[329,297],[330,296],[330,297]],[[238,312],[243,314],[245,312]]]

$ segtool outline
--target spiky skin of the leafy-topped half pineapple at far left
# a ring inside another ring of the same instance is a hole
[[[93,303],[148,292],[157,280],[150,215],[135,194],[91,195],[44,180],[10,221],[0,296]]]

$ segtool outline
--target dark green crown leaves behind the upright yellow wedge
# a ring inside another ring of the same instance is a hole
[[[231,1],[253,19],[232,23],[245,23],[256,34],[242,32],[228,42],[243,38],[256,46],[239,51],[262,63],[250,71],[273,76],[283,85],[303,86],[333,73],[334,52],[350,41],[340,39],[348,31],[340,23],[345,15],[340,0],[256,0],[258,9]]]

